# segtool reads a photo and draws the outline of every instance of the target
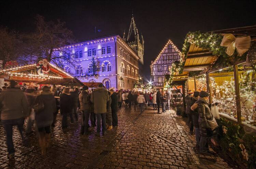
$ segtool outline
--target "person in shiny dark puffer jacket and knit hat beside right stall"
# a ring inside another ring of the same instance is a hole
[[[208,106],[209,104],[209,93],[206,91],[200,91],[199,99],[196,101],[198,104],[197,111],[199,114],[198,123],[199,123],[199,130],[200,130],[200,153],[202,154],[211,154],[209,150],[208,141],[210,141],[213,132],[211,130],[210,125],[208,124],[207,120],[212,120],[213,116],[211,110]]]

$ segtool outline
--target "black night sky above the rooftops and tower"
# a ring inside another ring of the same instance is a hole
[[[145,40],[144,73],[170,38],[181,50],[189,31],[208,32],[256,24],[256,1],[0,1],[0,25],[34,30],[34,17],[66,22],[77,41],[128,33],[131,14]],[[94,29],[101,30],[100,33]]]

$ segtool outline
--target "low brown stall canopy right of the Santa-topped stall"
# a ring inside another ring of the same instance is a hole
[[[76,78],[62,78],[62,79],[48,79],[45,81],[38,82],[36,84],[52,84],[52,85],[62,85],[62,86],[84,86],[84,84]]]

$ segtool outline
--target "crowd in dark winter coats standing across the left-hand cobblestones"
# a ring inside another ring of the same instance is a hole
[[[38,133],[41,154],[46,154],[51,140],[51,128],[55,126],[58,112],[62,116],[63,130],[70,123],[79,121],[81,112],[81,135],[88,135],[90,128],[97,126],[96,135],[106,134],[118,125],[118,97],[114,89],[109,91],[100,84],[98,88],[89,91],[87,86],[78,88],[57,87],[55,92],[49,86],[28,88],[15,81],[5,85],[0,94],[1,123],[6,133],[8,158],[15,157],[12,140],[13,126],[18,130],[24,141],[23,126],[27,119],[26,134],[33,133],[32,126]],[[89,126],[90,120],[90,126]],[[97,124],[97,125],[96,125]]]

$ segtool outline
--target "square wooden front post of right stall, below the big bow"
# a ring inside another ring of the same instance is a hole
[[[241,123],[242,122],[242,119],[241,119],[241,102],[240,102],[240,89],[239,89],[237,65],[234,65],[233,69],[234,69],[234,84],[235,84],[235,92],[236,92],[237,121],[239,123]]]

